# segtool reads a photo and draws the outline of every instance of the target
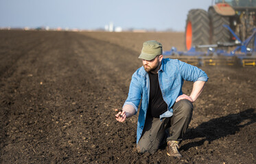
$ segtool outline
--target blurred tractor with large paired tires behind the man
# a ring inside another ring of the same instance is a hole
[[[237,42],[235,35],[244,41],[256,27],[256,0],[216,0],[208,11],[189,10],[185,27],[185,49],[201,44]],[[253,41],[248,49],[253,49]],[[225,48],[222,48],[225,49]]]

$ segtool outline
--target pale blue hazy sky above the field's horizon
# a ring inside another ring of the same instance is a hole
[[[191,9],[212,0],[0,0],[0,27],[185,31]]]

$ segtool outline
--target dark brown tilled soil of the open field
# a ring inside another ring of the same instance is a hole
[[[183,47],[183,33],[0,31],[0,163],[255,163],[256,68],[209,76],[181,143],[137,154],[137,115],[115,120],[146,40]],[[185,83],[183,92],[191,92]]]

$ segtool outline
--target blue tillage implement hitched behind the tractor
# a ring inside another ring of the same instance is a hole
[[[233,34],[236,41],[233,43],[205,44],[191,46],[189,51],[177,51],[173,47],[164,51],[165,58],[180,59],[194,66],[256,66],[256,29],[244,42],[238,38],[233,30],[224,25]],[[232,51],[227,51],[235,47]],[[207,49],[207,51],[202,51]]]

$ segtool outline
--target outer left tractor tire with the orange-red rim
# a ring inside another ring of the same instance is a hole
[[[185,29],[185,48],[209,44],[209,17],[205,10],[189,10]],[[202,51],[205,51],[202,49]]]

